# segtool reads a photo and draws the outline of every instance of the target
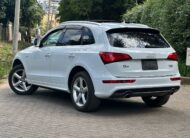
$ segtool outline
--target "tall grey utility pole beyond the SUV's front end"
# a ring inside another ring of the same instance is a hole
[[[14,33],[13,33],[13,54],[18,50],[18,33],[19,33],[19,18],[20,18],[20,0],[15,0],[15,17],[14,17]]]

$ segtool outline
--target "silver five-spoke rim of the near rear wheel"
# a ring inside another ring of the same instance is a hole
[[[88,86],[84,78],[78,77],[73,84],[73,99],[77,106],[82,107],[88,98]]]

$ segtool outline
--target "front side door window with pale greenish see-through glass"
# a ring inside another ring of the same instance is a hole
[[[44,40],[42,40],[41,46],[56,46],[62,33],[63,30],[56,30],[50,33]]]

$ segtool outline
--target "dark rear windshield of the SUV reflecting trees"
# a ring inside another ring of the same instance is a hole
[[[169,45],[153,29],[112,29],[107,31],[109,42],[120,48],[167,48]]]

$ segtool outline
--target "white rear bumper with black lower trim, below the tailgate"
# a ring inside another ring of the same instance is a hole
[[[127,78],[135,79],[134,83],[104,84],[103,80],[126,80],[126,78],[96,78],[93,79],[95,95],[98,98],[121,98],[134,96],[161,96],[177,92],[181,86],[181,81],[171,81],[173,77],[155,78]]]

